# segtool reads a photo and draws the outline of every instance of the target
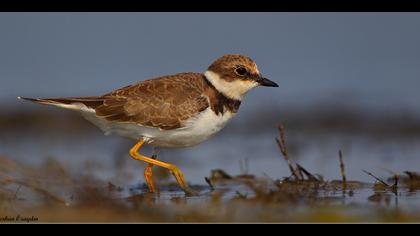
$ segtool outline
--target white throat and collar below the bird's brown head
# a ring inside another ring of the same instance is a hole
[[[213,71],[206,71],[204,73],[208,81],[226,97],[241,101],[243,96],[252,88],[258,86],[255,81],[234,80],[232,82],[226,81]]]

